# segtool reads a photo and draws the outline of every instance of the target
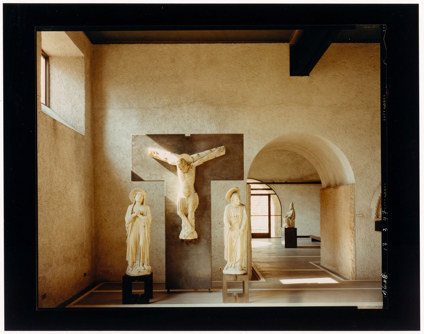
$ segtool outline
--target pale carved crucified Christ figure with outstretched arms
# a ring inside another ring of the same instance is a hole
[[[194,190],[196,167],[205,161],[225,154],[225,146],[215,147],[192,155],[175,154],[149,147],[149,155],[155,159],[177,166],[180,188],[177,196],[177,214],[181,218],[180,239],[197,239],[194,225],[194,213],[199,204],[199,196]]]

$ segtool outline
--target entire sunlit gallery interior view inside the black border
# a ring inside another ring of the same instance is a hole
[[[38,307],[381,308],[381,36],[37,31]]]

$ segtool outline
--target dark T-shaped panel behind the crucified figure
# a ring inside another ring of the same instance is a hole
[[[195,211],[198,239],[179,239],[177,167],[150,157],[149,147],[175,154],[195,154],[225,146],[226,153],[196,167],[194,182],[199,196]],[[165,280],[167,289],[210,289],[211,180],[244,180],[243,134],[132,135],[131,181],[165,180]],[[151,203],[154,205],[154,203]],[[224,210],[224,208],[222,208]],[[154,224],[154,217],[152,217]],[[154,270],[154,268],[152,268]]]

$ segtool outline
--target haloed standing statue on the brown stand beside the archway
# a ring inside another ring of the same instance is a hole
[[[243,275],[247,267],[247,213],[240,203],[240,189],[230,189],[226,196],[231,201],[224,210],[224,274]]]

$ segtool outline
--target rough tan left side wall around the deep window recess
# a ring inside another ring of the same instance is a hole
[[[94,281],[92,46],[82,32],[67,36],[84,54],[84,62],[79,64],[84,71],[81,91],[85,91],[86,134],[75,132],[41,111],[37,62],[39,307],[58,306]],[[41,43],[41,33],[37,33],[37,59],[41,56]]]

